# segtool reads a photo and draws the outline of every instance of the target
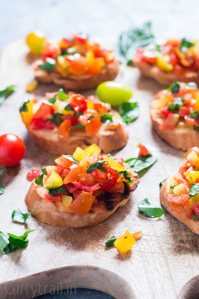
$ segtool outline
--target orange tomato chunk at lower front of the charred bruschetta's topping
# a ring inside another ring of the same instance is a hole
[[[69,211],[72,213],[86,214],[89,212],[94,200],[95,196],[91,193],[82,191],[69,206]]]

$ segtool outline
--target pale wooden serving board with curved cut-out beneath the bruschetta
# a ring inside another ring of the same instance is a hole
[[[140,116],[127,126],[127,146],[115,154],[133,157],[136,145],[142,142],[158,161],[141,178],[131,200],[92,228],[58,228],[33,217],[25,225],[12,222],[13,209],[27,211],[24,203],[30,185],[26,180],[27,171],[31,167],[51,165],[54,158],[34,144],[18,112],[24,97],[28,99],[25,87],[34,77],[26,54],[27,47],[22,41],[7,45],[1,53],[1,85],[16,84],[18,89],[0,108],[0,135],[17,134],[24,140],[26,152],[18,166],[4,167],[1,180],[5,193],[0,196],[0,230],[19,235],[34,228],[37,231],[29,235],[27,248],[0,254],[0,298],[33,298],[53,292],[53,287],[94,288],[117,299],[198,298],[198,237],[167,212],[161,218],[151,219],[140,214],[137,208],[138,202],[146,197],[160,206],[159,182],[178,170],[183,152],[169,147],[153,131],[149,104],[162,86],[141,78],[135,68],[121,70],[117,81],[132,87],[133,100],[140,105]],[[57,86],[39,85],[35,93],[43,96],[46,91],[57,89]],[[107,239],[120,236],[126,229],[132,233],[143,232],[131,252],[122,255],[116,248],[104,247]]]

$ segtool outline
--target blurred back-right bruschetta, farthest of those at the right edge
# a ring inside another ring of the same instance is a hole
[[[164,45],[139,48],[133,59],[146,77],[161,84],[171,85],[174,80],[195,82],[199,85],[199,45],[197,41],[168,39]]]

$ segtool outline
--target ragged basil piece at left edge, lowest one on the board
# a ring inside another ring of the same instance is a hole
[[[28,234],[31,231],[26,231],[22,236],[16,236],[10,233],[7,233],[7,236],[1,231],[0,232],[0,251],[2,254],[12,252],[15,248],[24,248],[28,245],[29,240],[27,240]]]

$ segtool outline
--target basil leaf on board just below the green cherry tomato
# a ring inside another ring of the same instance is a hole
[[[135,103],[123,103],[119,107],[119,114],[125,123],[130,123],[139,116],[139,105]]]

